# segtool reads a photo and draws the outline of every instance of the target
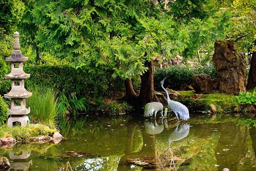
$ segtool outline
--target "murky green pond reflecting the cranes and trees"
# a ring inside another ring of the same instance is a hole
[[[79,119],[62,123],[58,144],[17,143],[0,156],[9,170],[255,170],[256,129],[237,120]]]

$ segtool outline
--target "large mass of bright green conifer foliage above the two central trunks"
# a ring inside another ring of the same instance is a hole
[[[168,54],[172,17],[154,1],[38,1],[33,16],[39,46],[74,67],[112,68],[132,78],[144,61]]]

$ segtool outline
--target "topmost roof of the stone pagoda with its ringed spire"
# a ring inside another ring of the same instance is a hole
[[[22,55],[22,52],[19,50],[19,33],[14,33],[14,50],[12,51],[12,55],[10,57],[6,58],[6,61],[12,61],[12,62],[23,62],[27,61],[28,58]]]

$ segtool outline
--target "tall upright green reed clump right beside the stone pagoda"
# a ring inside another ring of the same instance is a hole
[[[27,99],[30,107],[30,120],[33,123],[41,123],[50,127],[55,126],[58,116],[58,99],[53,89],[33,87],[30,89],[33,95]]]

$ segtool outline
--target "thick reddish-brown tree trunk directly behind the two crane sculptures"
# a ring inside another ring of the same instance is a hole
[[[139,103],[138,107],[144,106],[148,102],[160,101],[154,90],[154,78],[153,78],[153,68],[152,61],[146,61],[144,63],[145,67],[148,67],[148,70],[140,76],[141,78],[141,87],[139,94]]]

